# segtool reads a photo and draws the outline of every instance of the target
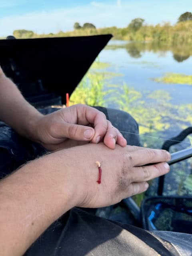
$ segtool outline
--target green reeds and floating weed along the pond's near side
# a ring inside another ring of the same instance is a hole
[[[107,67],[99,62],[94,63],[71,95],[70,104],[82,103],[105,107],[112,105],[130,113],[139,124],[141,144],[151,148],[161,148],[166,139],[191,126],[192,104],[171,104],[171,96],[164,90],[141,93],[126,83],[111,84],[110,77],[116,74],[109,74]],[[180,147],[190,146],[190,136],[186,142],[188,144],[180,143]],[[192,192],[191,176],[186,174],[186,168],[189,173],[189,163],[174,168],[174,188],[168,184],[166,191],[172,194]],[[150,195],[155,194],[155,191],[156,181],[152,181]],[[140,205],[144,197],[145,194],[136,195],[134,200]]]

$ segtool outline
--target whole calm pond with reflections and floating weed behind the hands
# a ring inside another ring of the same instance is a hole
[[[142,146],[161,148],[166,139],[192,126],[191,55],[189,45],[111,40],[98,56],[107,65],[90,69],[98,79],[105,74],[103,105],[129,112],[136,119]],[[191,141],[188,136],[170,151],[190,147]],[[156,186],[154,181],[150,194],[155,194]],[[191,159],[171,166],[164,193],[192,193]]]

